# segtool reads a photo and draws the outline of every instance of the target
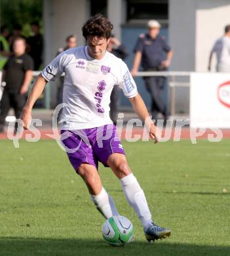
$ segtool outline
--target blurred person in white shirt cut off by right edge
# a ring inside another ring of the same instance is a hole
[[[212,56],[216,54],[216,71],[230,72],[230,25],[225,26],[224,34],[215,43],[210,53],[208,70],[211,70]]]

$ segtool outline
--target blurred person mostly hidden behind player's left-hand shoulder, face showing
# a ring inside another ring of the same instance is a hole
[[[66,51],[67,49],[77,47],[77,35],[68,35],[66,37],[66,46],[58,49],[58,54]],[[57,54],[57,55],[58,55]],[[60,77],[60,86],[58,87],[57,94],[57,105],[63,102],[63,87],[64,87],[64,76]],[[61,114],[61,112],[60,112]],[[58,119],[60,119],[60,114],[58,115]]]

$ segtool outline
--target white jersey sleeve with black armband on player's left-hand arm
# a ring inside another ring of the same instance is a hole
[[[57,77],[60,77],[64,72],[64,59],[64,53],[58,54],[58,56],[56,56],[56,58],[42,70],[41,75],[47,81],[54,81]]]

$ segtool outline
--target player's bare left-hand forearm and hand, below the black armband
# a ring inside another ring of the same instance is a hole
[[[39,75],[31,89],[31,93],[29,94],[28,100],[22,110],[21,115],[22,125],[25,129],[28,129],[29,127],[33,105],[35,104],[37,98],[39,98],[39,96],[43,93],[46,83],[47,81],[45,78]]]

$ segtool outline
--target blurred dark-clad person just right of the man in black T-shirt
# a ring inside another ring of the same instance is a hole
[[[39,22],[32,22],[33,35],[28,38],[28,54],[33,58],[34,70],[39,70],[43,61],[43,36],[40,33]]]

